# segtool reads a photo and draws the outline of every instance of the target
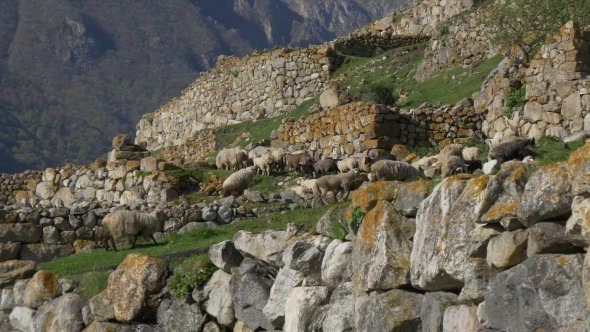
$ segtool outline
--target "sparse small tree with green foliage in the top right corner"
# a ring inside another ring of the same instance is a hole
[[[588,0],[497,0],[484,11],[484,25],[492,41],[508,55],[522,54],[529,62],[548,34],[567,21],[590,24]]]

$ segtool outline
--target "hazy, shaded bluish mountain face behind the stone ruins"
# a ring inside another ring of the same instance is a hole
[[[405,0],[403,0],[404,2]],[[221,54],[320,44],[386,0],[3,0],[0,173],[105,157]]]

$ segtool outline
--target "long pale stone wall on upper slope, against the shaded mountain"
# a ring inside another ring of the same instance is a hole
[[[136,142],[156,150],[182,145],[202,129],[287,113],[322,91],[332,61],[327,48],[222,56],[182,96],[144,115]]]

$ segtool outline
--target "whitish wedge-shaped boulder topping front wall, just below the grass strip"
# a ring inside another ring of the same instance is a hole
[[[256,260],[272,273],[277,273],[283,266],[285,231],[266,231],[253,234],[239,231],[234,235],[233,242],[244,257]]]

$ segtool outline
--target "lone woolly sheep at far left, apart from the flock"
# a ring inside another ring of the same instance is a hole
[[[109,250],[109,240],[113,249],[117,250],[116,242],[122,238],[133,237],[131,248],[135,248],[137,237],[149,237],[157,245],[154,233],[161,229],[161,223],[149,213],[119,210],[109,213],[102,221],[103,242],[105,250]]]

